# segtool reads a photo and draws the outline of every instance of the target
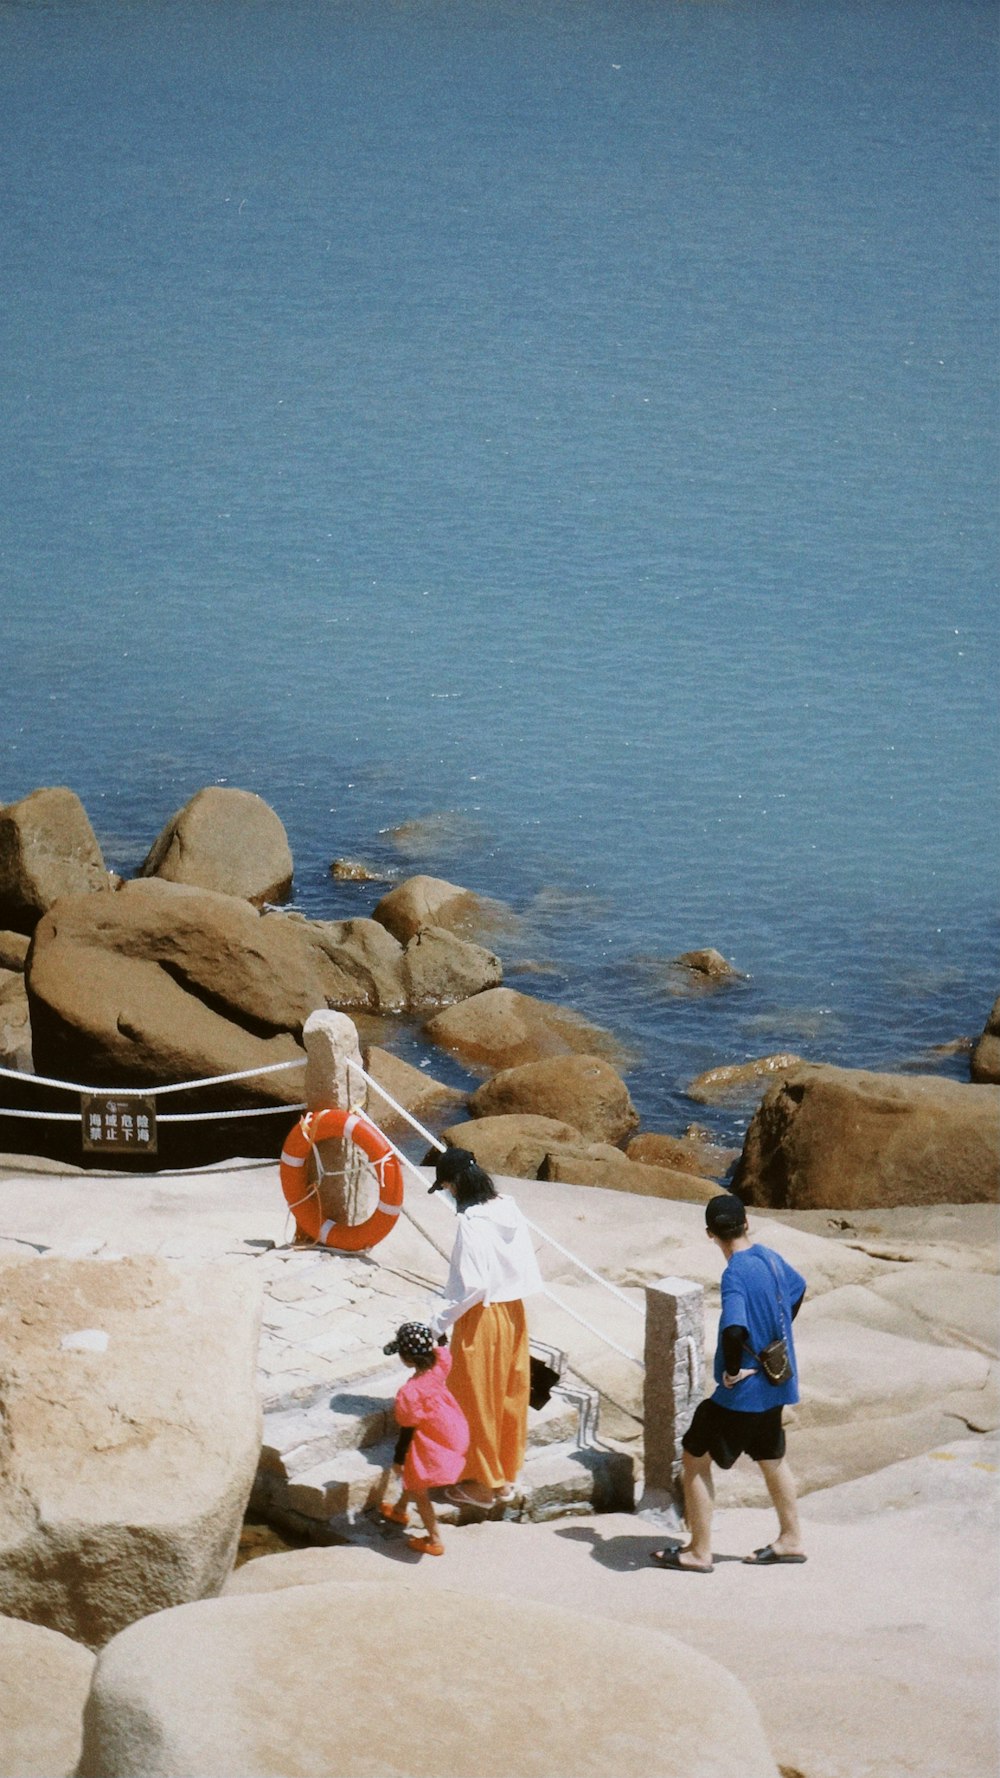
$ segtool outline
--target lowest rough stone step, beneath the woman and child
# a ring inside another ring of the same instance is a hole
[[[251,1511],[283,1526],[313,1543],[377,1540],[386,1527],[368,1520],[365,1510],[391,1463],[393,1438],[363,1449],[336,1453],[336,1460],[301,1470],[295,1479],[262,1470],[251,1497]],[[434,1504],[443,1524],[479,1518],[544,1520],[573,1513],[632,1511],[635,1476],[632,1458],[603,1446],[580,1446],[575,1438],[528,1447],[525,1469],[512,1501],[482,1513],[457,1506],[434,1490]]]

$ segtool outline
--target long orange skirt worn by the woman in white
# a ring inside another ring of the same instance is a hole
[[[463,1481],[502,1488],[518,1479],[528,1440],[530,1353],[525,1305],[475,1303],[452,1328],[448,1389],[464,1410],[470,1446]]]

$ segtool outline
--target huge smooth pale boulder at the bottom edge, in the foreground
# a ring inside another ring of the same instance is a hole
[[[135,1623],[100,1655],[80,1778],[778,1778],[749,1694],[673,1636],[420,1581]]]

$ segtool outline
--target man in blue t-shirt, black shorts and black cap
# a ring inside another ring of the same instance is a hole
[[[747,1213],[733,1193],[705,1205],[706,1232],[726,1257],[722,1312],[715,1346],[715,1390],[694,1410],[681,1438],[683,1517],[690,1542],[683,1549],[653,1552],[660,1568],[712,1574],[712,1463],[731,1469],[746,1451],[758,1463],[778,1513],[778,1536],[746,1561],[758,1568],[801,1563],[802,1533],[795,1481],[785,1462],[781,1408],[799,1399],[799,1373],[792,1321],[806,1294],[806,1280],[779,1253],[751,1243]],[[758,1353],[785,1339],[790,1376],[769,1383]]]

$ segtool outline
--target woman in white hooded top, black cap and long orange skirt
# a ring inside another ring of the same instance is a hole
[[[452,1335],[448,1387],[470,1426],[463,1479],[448,1495],[468,1506],[511,1499],[525,1460],[530,1353],[523,1298],[541,1291],[528,1225],[468,1149],[445,1149],[431,1191],[457,1214],[445,1303],[431,1326]]]

